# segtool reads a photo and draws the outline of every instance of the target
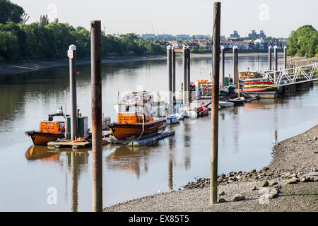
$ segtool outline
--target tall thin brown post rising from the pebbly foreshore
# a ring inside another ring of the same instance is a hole
[[[218,92],[220,80],[220,2],[213,4],[212,95],[211,95],[211,180],[210,203],[218,202]]]

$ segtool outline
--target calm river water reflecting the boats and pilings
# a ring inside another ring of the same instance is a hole
[[[240,56],[239,62],[240,70],[267,68],[265,55],[259,60],[257,54]],[[192,57],[191,63],[192,81],[210,79],[209,57]],[[90,66],[79,66],[78,70],[78,108],[90,122]],[[231,55],[225,58],[225,74],[229,73],[232,74]],[[165,60],[103,65],[102,112],[114,121],[112,104],[118,90],[163,91],[166,74]],[[177,58],[177,90],[181,82],[182,61]],[[58,152],[33,147],[24,134],[38,129],[40,120],[64,106],[64,90],[69,92],[67,68],[0,78],[1,211],[91,210],[90,149]],[[314,85],[293,97],[220,109],[219,174],[268,165],[273,143],[317,124],[317,98],[318,85]],[[169,126],[167,129],[175,130],[175,136],[146,148],[104,146],[103,206],[156,194],[159,190],[177,190],[195,177],[209,177],[210,123],[211,118],[205,117],[194,123]]]

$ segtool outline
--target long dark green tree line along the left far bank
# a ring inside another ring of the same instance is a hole
[[[71,44],[76,45],[77,57],[90,57],[90,32],[85,28],[73,28],[57,19],[49,23],[47,16],[41,16],[37,23],[25,25],[21,23],[23,13],[20,6],[0,0],[0,61],[64,58]],[[164,52],[162,45],[142,40],[134,34],[115,37],[102,32],[103,57]]]

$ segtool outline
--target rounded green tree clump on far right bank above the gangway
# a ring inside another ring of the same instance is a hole
[[[288,37],[287,54],[299,57],[318,57],[318,32],[312,25],[292,31]]]

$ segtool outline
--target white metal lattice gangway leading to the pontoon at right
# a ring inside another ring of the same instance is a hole
[[[264,73],[264,78],[273,82],[276,87],[318,81],[318,62],[306,66],[298,66]]]

